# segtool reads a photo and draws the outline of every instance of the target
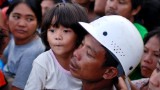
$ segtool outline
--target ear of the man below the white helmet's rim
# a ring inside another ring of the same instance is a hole
[[[103,74],[104,79],[112,79],[118,75],[118,69],[115,67],[106,68],[105,73]]]

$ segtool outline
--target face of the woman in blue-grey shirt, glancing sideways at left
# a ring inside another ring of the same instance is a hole
[[[34,12],[24,3],[14,7],[9,15],[8,24],[15,41],[33,38],[38,26]]]

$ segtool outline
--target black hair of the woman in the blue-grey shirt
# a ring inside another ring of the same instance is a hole
[[[33,13],[35,14],[37,18],[38,25],[40,26],[42,22],[42,10],[41,10],[41,5],[40,5],[41,3],[40,0],[13,0],[10,3],[9,8],[6,12],[7,16],[9,17],[13,9],[21,3],[25,3],[33,11]]]

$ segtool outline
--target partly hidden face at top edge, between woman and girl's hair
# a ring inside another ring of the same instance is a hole
[[[42,16],[44,17],[44,14],[47,10],[52,8],[55,5],[54,0],[42,0],[41,7],[42,7]]]

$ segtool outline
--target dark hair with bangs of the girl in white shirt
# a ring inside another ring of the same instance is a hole
[[[73,24],[79,21],[88,22],[88,17],[85,9],[78,4],[72,3],[58,3],[55,7],[47,11],[44,16],[44,21],[42,22],[42,41],[46,46],[46,50],[50,49],[49,43],[47,41],[47,30],[51,26],[52,19],[55,18],[55,22],[52,24],[55,27],[62,25],[66,28],[71,28]],[[77,46],[81,43],[85,30],[73,29],[77,35]]]

